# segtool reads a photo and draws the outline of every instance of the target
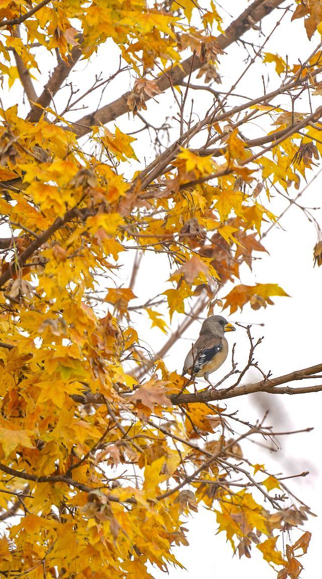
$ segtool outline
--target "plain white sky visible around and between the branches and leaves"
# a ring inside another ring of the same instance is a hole
[[[247,2],[241,0],[231,0],[225,2],[225,8],[236,16],[246,7]],[[223,12],[223,10],[221,10]],[[282,12],[279,11],[280,15]],[[264,20],[263,30],[268,34],[273,24],[276,21],[276,11],[273,12],[273,17],[268,17]],[[258,42],[258,32],[253,31],[246,36],[247,40],[253,38],[254,42]],[[287,39],[287,42],[286,42]],[[317,43],[320,42],[320,37],[315,35],[311,42],[308,41],[304,25],[302,21],[295,21],[291,24],[290,17],[287,16],[285,23],[277,29],[271,41],[268,43],[267,52],[279,53],[280,56],[286,57],[288,55],[291,63],[297,63],[298,58],[302,61],[312,52]],[[223,79],[223,85],[215,86],[219,90],[225,90],[239,76],[245,65],[242,59],[245,56],[244,51],[240,46],[234,45],[227,49],[227,56],[221,58],[219,72]],[[114,58],[115,57],[115,58]],[[47,57],[46,57],[47,58]],[[75,72],[72,75],[73,82],[80,88],[80,93],[87,90],[92,84],[95,74],[102,71],[103,78],[113,74],[117,69],[117,52],[112,49],[110,43],[107,46],[100,47],[98,57],[93,57],[90,65],[82,62],[75,67]],[[55,59],[52,58],[51,65],[54,66]],[[240,82],[238,92],[247,94],[251,97],[262,94],[262,80],[261,75],[267,74],[271,79],[271,87],[277,87],[280,84],[280,79],[274,71],[272,64],[268,68],[258,61],[254,67],[251,67],[249,73]],[[43,79],[46,82],[47,78]],[[202,84],[202,79],[197,81]],[[102,104],[114,100],[117,96],[128,90],[133,85],[133,80],[129,78],[128,74],[117,78],[104,93]],[[18,89],[18,85],[16,85]],[[40,93],[40,85],[36,85],[36,89]],[[62,90],[55,103],[60,111],[60,106],[63,108],[66,91]],[[10,96],[2,91],[2,97],[5,106],[13,104],[15,95],[18,90],[10,93]],[[79,93],[79,94],[80,94]],[[99,93],[99,91],[98,91]],[[77,95],[78,96],[78,95]],[[194,98],[197,97],[194,91]],[[202,96],[197,97],[197,108],[203,116],[203,112],[210,103],[209,93],[203,92]],[[92,110],[97,105],[98,95],[91,96],[89,110]],[[175,109],[170,109],[172,104],[171,96],[168,93],[158,96],[158,102],[149,101],[148,111],[145,113],[147,119],[151,122],[161,123],[162,118],[166,115],[175,113]],[[314,99],[315,107],[321,104],[321,98]],[[288,107],[289,101],[286,97],[282,97],[280,105]],[[189,106],[187,105],[187,110]],[[302,101],[296,108],[299,112],[306,112],[307,103]],[[86,113],[88,111],[84,111]],[[81,116],[82,112],[77,112],[71,115],[71,120],[76,120]],[[123,118],[117,119],[116,123],[121,130],[129,131],[141,127],[142,123],[139,120],[133,122],[128,119],[127,115]],[[134,127],[133,129],[129,127]],[[113,129],[113,123],[110,124]],[[263,134],[260,126],[253,126],[249,133],[250,137],[254,135],[260,136]],[[176,135],[173,134],[172,138]],[[138,146],[136,154],[143,162],[143,157],[148,159],[153,154],[149,140],[145,133],[138,135]],[[134,145],[135,146],[135,145]],[[312,173],[313,176],[313,173]],[[302,180],[301,186],[304,186]],[[303,203],[306,207],[321,206],[321,187],[322,178],[317,178],[316,181],[306,190],[299,203]],[[261,197],[261,202],[269,207],[268,201],[265,197]],[[279,214],[286,206],[287,202],[274,199],[272,202],[272,211]],[[321,220],[322,212],[314,212],[314,216]],[[286,214],[286,217],[281,221],[282,229],[274,229],[269,233],[267,239],[264,240],[264,245],[269,251],[267,254],[257,254],[261,259],[254,262],[254,271],[251,273],[247,266],[242,269],[241,283],[254,284],[258,283],[278,283],[283,287],[291,298],[273,298],[275,306],[268,306],[267,309],[260,309],[253,311],[249,306],[246,306],[242,313],[238,312],[229,317],[230,321],[239,321],[254,324],[264,324],[264,327],[254,325],[253,335],[265,336],[265,340],[258,349],[257,359],[260,361],[261,368],[264,371],[271,369],[274,376],[284,374],[294,369],[305,368],[310,365],[321,362],[321,327],[322,327],[322,311],[321,311],[321,285],[322,285],[322,268],[313,269],[313,246],[316,243],[316,232],[312,223],[309,223],[304,213],[297,207],[292,207]],[[3,230],[1,234],[6,234]],[[121,255],[121,263],[125,264],[124,273],[122,277],[124,280],[129,279],[131,275],[130,263],[131,256]],[[135,294],[139,296],[139,302],[143,303],[145,299],[164,291],[169,288],[169,284],[165,284],[168,278],[168,261],[164,256],[156,256],[147,252],[140,276],[135,285]],[[162,288],[162,289],[161,289]],[[226,286],[221,292],[225,295],[230,290],[230,286]],[[227,310],[225,310],[227,312]],[[217,312],[219,313],[219,312]],[[139,334],[144,335],[145,340],[157,351],[164,343],[164,335],[160,330],[147,329],[146,318],[138,319]],[[172,329],[176,328],[178,321],[182,320],[182,316],[173,316]],[[184,357],[190,347],[191,341],[195,340],[199,332],[199,325],[195,323],[192,325],[184,336],[184,339],[179,340],[176,346],[169,352],[165,358],[166,365],[169,369],[176,369],[178,372],[182,369]],[[245,334],[241,330],[234,334],[228,335],[230,344],[233,341],[237,343],[236,359],[240,362],[240,367],[246,362],[248,356],[248,346],[245,344]],[[222,368],[216,374],[216,378],[221,378],[227,373],[230,368],[230,358],[225,362]],[[253,372],[248,377],[253,381],[257,379],[257,375]],[[247,381],[247,380],[246,380]],[[306,383],[312,383],[306,380]],[[301,385],[304,382],[301,382]],[[273,399],[273,400],[272,400]],[[289,481],[289,486],[294,490],[295,494],[299,494],[302,500],[310,505],[313,512],[320,515],[320,519],[310,519],[308,525],[304,530],[313,532],[312,541],[310,543],[308,555],[303,561],[305,570],[302,572],[303,579],[322,578],[322,572],[319,571],[320,561],[320,521],[322,516],[322,507],[320,500],[320,488],[322,481],[322,466],[321,466],[321,419],[320,408],[322,402],[322,393],[290,396],[273,396],[273,395],[256,395],[251,397],[240,397],[235,400],[228,401],[229,411],[239,409],[240,417],[244,420],[256,420],[257,417],[262,416],[264,410],[271,405],[273,410],[268,417],[267,424],[272,424],[277,430],[294,430],[297,428],[305,428],[314,426],[313,433],[296,434],[292,437],[280,437],[279,441],[282,444],[282,449],[277,453],[270,453],[257,445],[249,444],[247,446],[248,457],[253,463],[265,463],[267,469],[273,473],[281,472],[283,475],[297,474],[298,472],[309,470],[310,477],[305,479],[294,479]],[[238,431],[238,428],[237,428]],[[215,579],[217,577],[232,576],[236,573],[239,576],[247,577],[247,579],[262,579],[267,577],[274,577],[274,571],[269,569],[268,564],[262,561],[262,555],[253,548],[252,558],[243,558],[239,561],[237,557],[231,558],[230,545],[225,544],[225,535],[221,533],[215,537],[217,524],[215,516],[211,512],[207,512],[205,508],[199,508],[199,514],[191,516],[190,520],[184,525],[190,529],[188,540],[190,547],[182,547],[177,549],[177,558],[181,560],[186,566],[186,571],[173,569],[169,571],[169,579],[187,579],[188,577],[198,577],[201,573],[204,579]],[[287,541],[287,540],[286,540]],[[287,541],[289,542],[289,541]],[[154,576],[159,579],[164,575],[161,571],[155,570]]]

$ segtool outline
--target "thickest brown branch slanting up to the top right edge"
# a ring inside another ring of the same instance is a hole
[[[267,14],[282,4],[284,0],[255,0],[234,22],[228,26],[225,34],[220,34],[217,38],[217,45],[221,50],[236,42],[240,36],[245,34],[256,22],[261,21]],[[176,66],[171,71],[171,82],[166,75],[162,75],[157,80],[157,86],[161,91],[169,89],[172,86],[180,85],[182,80],[188,76],[192,71],[197,70],[202,65],[198,57],[190,56],[186,58],[180,67]],[[145,100],[151,97],[146,96]],[[98,111],[94,111],[89,115],[83,116],[75,124],[73,130],[79,137],[86,135],[90,131],[90,127],[95,124],[106,124],[117,117],[124,115],[127,112],[128,93],[124,93],[115,101],[108,105],[101,107]]]

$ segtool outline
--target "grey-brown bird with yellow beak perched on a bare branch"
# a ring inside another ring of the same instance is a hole
[[[187,373],[193,378],[203,376],[213,387],[208,376],[224,363],[228,354],[228,342],[224,332],[233,332],[235,329],[223,316],[207,318],[201,326],[197,342],[184,360],[182,376]]]

